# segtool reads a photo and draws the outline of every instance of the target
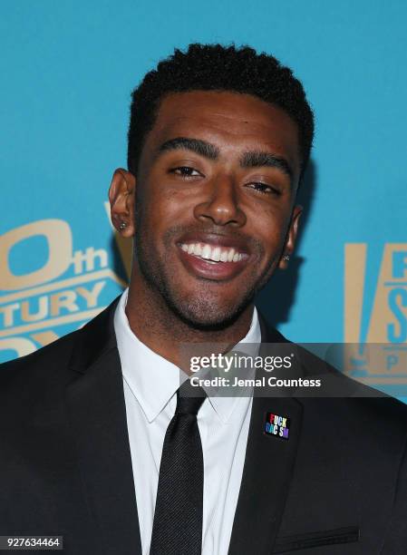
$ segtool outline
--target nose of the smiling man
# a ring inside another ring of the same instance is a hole
[[[208,198],[194,209],[195,218],[218,226],[240,228],[246,223],[246,214],[238,202],[236,183],[232,176],[218,176],[208,183]]]

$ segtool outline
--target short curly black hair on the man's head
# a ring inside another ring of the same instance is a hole
[[[248,93],[283,109],[298,125],[304,173],[314,138],[314,114],[293,72],[274,56],[257,54],[249,46],[189,44],[186,52],[175,49],[131,93],[127,163],[133,175],[160,101],[167,94],[188,91]]]

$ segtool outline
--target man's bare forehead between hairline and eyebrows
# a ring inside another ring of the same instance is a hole
[[[175,137],[213,142],[220,151],[266,149],[300,166],[298,128],[286,112],[250,94],[192,91],[161,102],[146,150]]]

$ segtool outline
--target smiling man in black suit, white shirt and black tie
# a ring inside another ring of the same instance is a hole
[[[178,393],[180,344],[285,342],[253,299],[293,253],[313,131],[302,85],[247,47],[192,44],[145,76],[110,190],[130,287],[1,368],[0,534],[70,555],[406,552],[404,405]]]

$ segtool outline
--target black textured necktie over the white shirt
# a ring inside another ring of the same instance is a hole
[[[197,414],[205,400],[189,380],[162,447],[150,555],[199,555],[202,546],[203,455]],[[184,396],[189,394],[201,396]]]

